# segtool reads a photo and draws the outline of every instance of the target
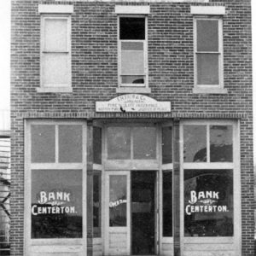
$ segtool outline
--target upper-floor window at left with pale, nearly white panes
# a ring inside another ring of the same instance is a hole
[[[69,15],[42,16],[41,87],[71,87]]]

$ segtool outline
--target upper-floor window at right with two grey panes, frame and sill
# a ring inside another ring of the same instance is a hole
[[[224,93],[222,19],[195,17],[195,92]]]

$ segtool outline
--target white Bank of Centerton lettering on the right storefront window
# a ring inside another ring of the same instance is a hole
[[[187,215],[195,212],[229,212],[227,206],[218,205],[219,192],[217,191],[190,191],[189,204],[185,207]]]

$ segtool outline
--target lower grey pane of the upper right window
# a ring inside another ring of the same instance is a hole
[[[219,84],[218,54],[197,54],[197,84]]]

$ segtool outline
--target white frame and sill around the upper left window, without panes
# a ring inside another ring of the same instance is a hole
[[[67,84],[44,84],[43,70],[44,55],[47,53],[57,53],[58,51],[45,51],[44,50],[44,26],[45,20],[67,20],[67,49],[61,51],[62,54],[67,54]],[[40,40],[40,84],[41,87],[37,88],[38,92],[72,92],[72,71],[71,71],[71,16],[70,15],[41,15],[41,40]]]

